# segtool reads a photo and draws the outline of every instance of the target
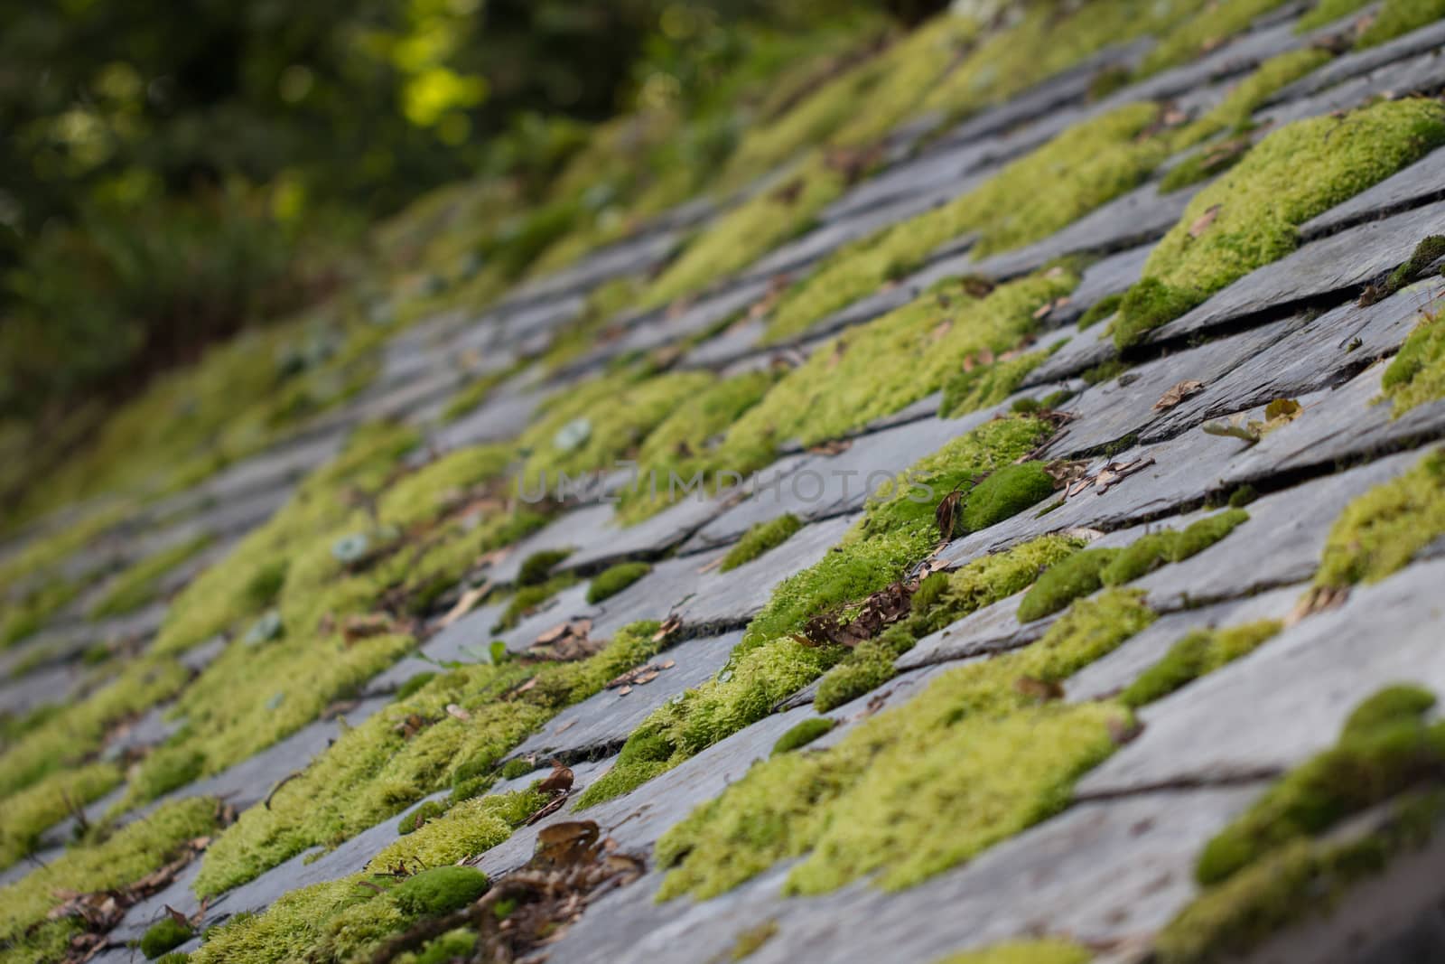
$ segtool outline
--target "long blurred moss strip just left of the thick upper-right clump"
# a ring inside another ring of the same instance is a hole
[[[1082,121],[946,205],[840,250],[785,296],[769,322],[769,338],[808,331],[970,231],[981,233],[978,256],[1003,251],[1048,237],[1126,194],[1168,153],[1163,140],[1140,137],[1157,114],[1155,104],[1130,104]],[[958,367],[951,364],[949,371]]]

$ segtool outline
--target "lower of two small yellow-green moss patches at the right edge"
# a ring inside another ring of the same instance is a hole
[[[1340,513],[1329,529],[1315,585],[1377,582],[1403,568],[1445,533],[1445,451],[1376,486]]]

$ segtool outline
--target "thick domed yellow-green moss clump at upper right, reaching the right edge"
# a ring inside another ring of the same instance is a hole
[[[1114,321],[1123,348],[1248,272],[1289,254],[1299,224],[1445,142],[1445,107],[1387,101],[1274,132],[1201,191],[1150,251]],[[1302,168],[1302,165],[1305,165]],[[1300,176],[1308,169],[1309,176]]]

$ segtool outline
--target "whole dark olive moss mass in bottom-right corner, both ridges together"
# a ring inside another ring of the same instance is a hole
[[[1445,814],[1428,785],[1445,762],[1429,692],[1390,687],[1351,715],[1338,743],[1296,767],[1199,854],[1205,890],[1156,938],[1162,964],[1237,960],[1287,925],[1329,912],[1348,887],[1419,848]],[[1373,830],[1325,835],[1387,805]]]

